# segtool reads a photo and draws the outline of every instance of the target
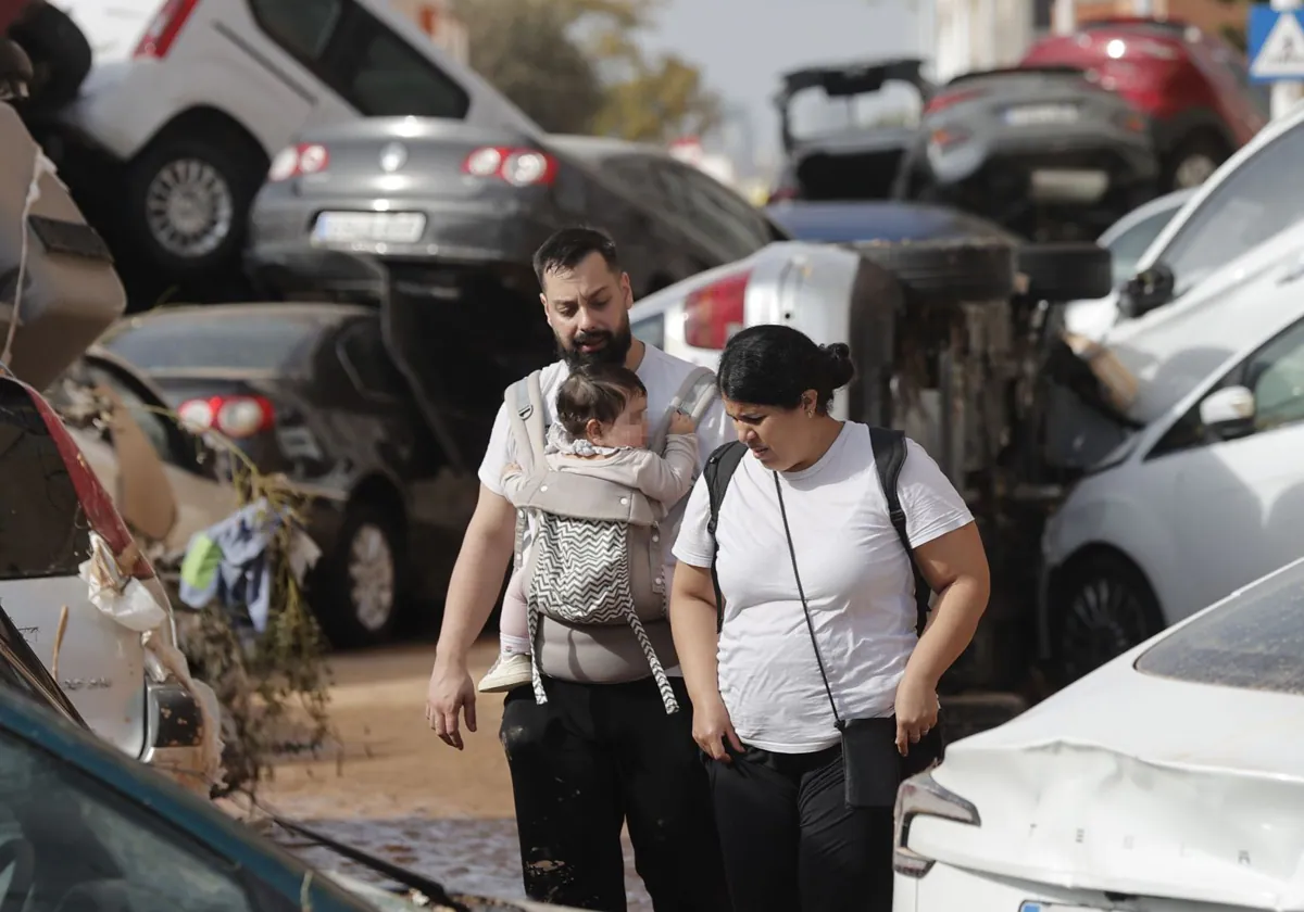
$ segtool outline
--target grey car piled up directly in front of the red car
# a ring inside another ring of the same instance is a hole
[[[1071,66],[957,77],[925,108],[897,198],[944,202],[1034,241],[1090,240],[1157,193],[1150,124]]]

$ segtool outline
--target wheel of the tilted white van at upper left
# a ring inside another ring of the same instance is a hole
[[[128,167],[130,240],[173,281],[239,268],[261,155],[233,129],[164,130]]]

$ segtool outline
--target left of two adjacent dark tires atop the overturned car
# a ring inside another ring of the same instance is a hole
[[[1015,293],[1015,248],[1003,241],[874,241],[855,250],[892,272],[915,304],[1004,301]]]

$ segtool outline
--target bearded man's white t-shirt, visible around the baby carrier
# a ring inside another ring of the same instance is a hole
[[[687,379],[689,374],[696,367],[682,358],[677,358],[673,354],[666,354],[659,348],[652,345],[644,345],[643,362],[639,363],[635,371],[639,379],[643,380],[643,386],[648,391],[648,425],[656,426],[656,423],[665,414],[665,410],[670,408],[670,400],[674,399],[674,393],[679,391],[683,382]],[[561,388],[562,382],[570,377],[570,367],[565,361],[556,361],[542,370],[542,375],[539,378],[539,386],[544,397],[544,423],[550,425],[557,421],[557,391]],[[733,422],[729,421],[725,414],[724,405],[716,399],[707,413],[698,422],[698,474],[702,474],[703,468],[705,468],[707,457],[722,443],[737,439]],[[480,482],[488,487],[494,494],[503,495],[502,486],[502,470],[509,463],[515,461],[511,436],[511,422],[507,418],[507,406],[499,405],[498,414],[493,422],[493,431],[489,435],[489,447],[485,449],[484,460],[480,463]],[[674,569],[674,554],[672,552],[672,546],[674,545],[675,530],[678,529],[679,520],[683,516],[685,498],[672,509],[669,509],[665,520],[661,522],[662,535],[661,539],[665,547],[665,578],[670,580],[670,575]],[[665,504],[670,507],[670,504]],[[531,537],[533,535],[533,525],[531,525],[527,532],[524,547],[528,549],[531,543]]]

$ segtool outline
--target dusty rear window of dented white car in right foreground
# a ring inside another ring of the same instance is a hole
[[[1136,670],[1304,694],[1304,562],[1254,584],[1141,654]]]

